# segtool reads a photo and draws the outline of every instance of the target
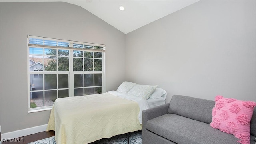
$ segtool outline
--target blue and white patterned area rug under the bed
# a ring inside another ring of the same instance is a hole
[[[129,140],[130,144],[142,144],[142,131],[130,132]],[[29,144],[56,144],[56,141],[54,136],[52,136]],[[113,136],[112,138],[103,138],[90,144],[127,144],[127,134]]]

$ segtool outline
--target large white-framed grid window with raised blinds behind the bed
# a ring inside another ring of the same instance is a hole
[[[105,92],[105,46],[28,36],[28,111],[57,98]]]

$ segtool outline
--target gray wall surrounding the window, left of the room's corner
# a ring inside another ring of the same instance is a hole
[[[1,2],[2,133],[48,123],[50,110],[28,113],[27,35],[106,44],[106,91],[124,81],[125,35],[65,2]]]

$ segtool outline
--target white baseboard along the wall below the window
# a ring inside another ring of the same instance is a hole
[[[16,130],[16,131],[13,131],[13,132],[7,132],[7,133],[2,134],[2,139],[19,138],[19,137],[27,136],[27,135],[30,135],[30,134],[36,134],[38,132],[44,132],[44,131],[46,131],[46,128],[47,128],[47,124],[44,124],[44,125],[41,125],[41,126],[26,128],[26,129],[23,129],[23,130]]]

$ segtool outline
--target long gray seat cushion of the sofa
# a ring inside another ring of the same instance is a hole
[[[146,128],[178,144],[239,144],[238,138],[176,114],[165,114],[148,120]]]

